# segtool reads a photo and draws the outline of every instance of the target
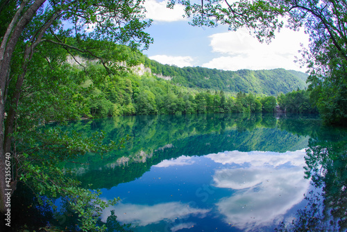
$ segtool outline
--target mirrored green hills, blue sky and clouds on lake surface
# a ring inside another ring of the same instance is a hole
[[[115,124],[117,132],[122,125]],[[97,182],[105,185],[94,184],[110,188],[104,196],[124,199],[103,219],[115,210],[135,231],[273,231],[306,204],[310,175],[303,178],[303,167],[312,173],[312,161],[305,148],[325,133],[316,118],[272,115],[146,117],[126,125],[133,135],[126,150],[113,154],[116,162],[96,162],[81,181],[103,178]]]

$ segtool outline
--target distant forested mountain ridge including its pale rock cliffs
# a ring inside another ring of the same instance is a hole
[[[207,67],[177,67],[163,65],[150,60],[141,51],[134,51],[121,46],[113,51],[116,57],[122,57],[118,65],[128,66],[134,74],[156,76],[177,86],[196,88],[198,90],[216,90],[230,93],[245,92],[276,96],[281,92],[286,94],[293,90],[307,88],[305,83],[308,75],[303,72],[286,69],[239,69],[238,71],[225,71]],[[101,51],[112,53],[112,51]],[[83,56],[87,63],[95,63],[94,57]],[[69,59],[74,63],[74,59]],[[83,63],[83,60],[79,61]]]

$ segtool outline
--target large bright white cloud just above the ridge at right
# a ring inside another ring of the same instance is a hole
[[[214,53],[222,56],[203,64],[203,67],[238,70],[238,69],[296,69],[295,56],[301,44],[307,46],[308,35],[303,31],[291,31],[283,28],[270,43],[260,43],[246,29],[210,35],[210,46]],[[302,70],[301,70],[302,71]]]

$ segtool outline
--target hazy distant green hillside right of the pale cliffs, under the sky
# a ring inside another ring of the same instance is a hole
[[[277,95],[298,88],[307,87],[307,74],[294,70],[248,70],[236,72],[208,69],[205,67],[176,67],[162,65],[155,60],[145,60],[153,74],[171,76],[171,82],[189,88],[223,90],[225,92],[252,92],[255,94]]]

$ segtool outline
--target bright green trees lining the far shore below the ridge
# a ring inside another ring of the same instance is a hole
[[[105,82],[101,90],[94,88],[94,92],[96,91],[99,92],[99,98],[93,98],[94,95],[86,96],[94,117],[273,112],[277,104],[276,97],[255,97],[252,93],[243,92],[232,97],[223,91],[212,93],[210,90],[192,90],[178,87],[155,76],[139,77],[134,74],[119,79],[117,85]],[[99,106],[100,109],[95,106]],[[117,110],[108,110],[112,109],[112,106]]]

